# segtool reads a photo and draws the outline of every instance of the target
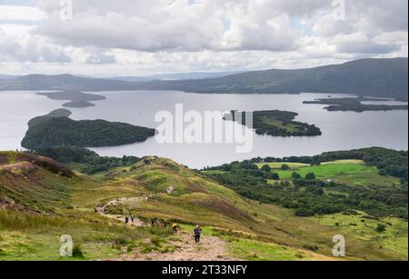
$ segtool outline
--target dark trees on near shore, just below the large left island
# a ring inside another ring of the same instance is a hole
[[[35,154],[42,155],[57,162],[82,164],[81,171],[85,174],[105,172],[113,167],[132,166],[140,161],[135,156],[101,157],[95,152],[75,146],[58,146],[38,149]]]

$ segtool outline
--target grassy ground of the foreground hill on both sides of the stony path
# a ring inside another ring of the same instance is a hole
[[[52,181],[67,179],[47,171],[43,175]],[[58,238],[62,234],[71,234],[76,243],[82,244],[85,259],[114,258],[123,253],[118,250],[122,246],[115,243],[142,245],[141,240],[146,238],[166,238],[165,231],[130,229],[94,214],[97,204],[124,197],[150,196],[141,203],[113,208],[118,214],[132,212],[141,219],[203,224],[205,234],[224,238],[232,254],[250,260],[327,259],[333,236],[344,232],[314,219],[295,217],[274,205],[246,200],[162,158],[146,158],[132,169],[77,176],[75,183],[66,184],[70,186],[65,204],[71,209],[56,206],[50,217],[0,211],[0,259],[58,260]],[[172,194],[166,192],[169,187],[174,188]],[[401,238],[407,239],[407,224],[403,224],[401,233]],[[386,236],[384,242],[394,243],[395,235]],[[354,234],[348,235],[348,244],[350,258],[404,258],[404,254],[390,253],[390,245],[381,249],[373,239],[360,239]],[[317,250],[308,251],[311,247]]]

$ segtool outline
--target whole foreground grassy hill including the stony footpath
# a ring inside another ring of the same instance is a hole
[[[3,159],[2,168],[12,163],[10,157],[20,155],[11,154]],[[42,167],[40,171],[48,184],[67,185],[69,191],[61,200],[69,206],[56,206],[48,216],[0,210],[0,237],[6,243],[0,259],[26,258],[28,250],[36,260],[58,259],[50,250],[59,247],[55,239],[71,234],[84,252],[79,259],[189,260],[195,259],[189,251],[200,251],[207,260],[324,260],[331,259],[333,236],[341,232],[348,237],[348,259],[407,258],[403,248],[406,240],[407,250],[407,223],[400,219],[367,220],[362,235],[351,231],[350,225],[364,220],[362,213],[334,215],[340,226],[333,224],[332,215],[298,217],[292,210],[246,199],[165,158],[146,157],[94,175],[76,174],[71,181]],[[42,180],[37,177],[31,183],[38,185],[36,181]],[[0,189],[5,185],[0,184]],[[44,203],[31,192],[25,197]],[[137,217],[133,225],[124,223],[129,214]],[[177,236],[165,228],[173,222],[182,224]],[[199,246],[191,244],[189,237],[195,224],[205,230],[205,243]],[[387,227],[383,237],[376,233],[377,224]]]

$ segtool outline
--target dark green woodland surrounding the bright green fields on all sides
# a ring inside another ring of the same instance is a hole
[[[314,173],[302,176],[296,171],[291,179],[282,180],[267,164],[297,162],[320,165],[324,162],[346,159],[364,159],[365,164],[376,166],[379,175],[400,178],[401,184],[367,184],[355,186],[321,180]],[[256,158],[208,168],[202,174],[233,189],[238,194],[266,204],[279,204],[294,210],[298,216],[315,214],[365,212],[368,218],[395,216],[407,220],[407,152],[370,148],[321,154],[314,157]],[[274,183],[272,184],[271,181]]]

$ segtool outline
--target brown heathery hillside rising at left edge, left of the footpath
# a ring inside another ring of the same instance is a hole
[[[67,207],[75,174],[51,159],[0,152],[0,209],[36,213]]]

